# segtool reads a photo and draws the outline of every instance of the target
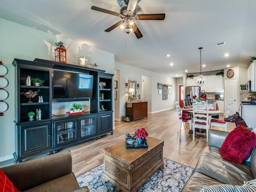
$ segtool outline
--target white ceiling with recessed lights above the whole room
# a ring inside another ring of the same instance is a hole
[[[0,17],[111,52],[116,62],[173,77],[185,70],[200,72],[199,47],[206,64],[202,72],[227,64],[247,67],[256,56],[256,0],[139,0],[137,14],[166,14],[164,20],[138,20],[140,39],[119,28],[104,32],[120,18],[91,10],[119,12],[118,2],[123,0],[1,0]],[[222,41],[226,44],[215,45]]]

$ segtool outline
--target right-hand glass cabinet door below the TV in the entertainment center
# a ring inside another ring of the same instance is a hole
[[[98,116],[91,115],[79,118],[79,140],[98,135]]]

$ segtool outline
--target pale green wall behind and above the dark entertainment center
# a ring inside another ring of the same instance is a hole
[[[4,100],[4,102],[8,104],[8,110],[4,112],[4,116],[0,116],[0,161],[3,161],[13,158],[12,153],[15,150],[15,124],[13,122],[15,113],[13,59],[34,60],[34,58],[41,58],[54,60],[55,42],[61,40],[67,48],[68,63],[78,64],[77,54],[80,50],[79,48],[86,42],[75,42],[74,40],[63,38],[61,35],[55,36],[48,34],[2,18],[0,18],[0,26],[0,60],[2,60],[3,64],[8,68],[8,73],[5,75],[5,78],[9,82],[8,86],[4,88],[9,94],[8,98]],[[89,55],[89,63],[97,63],[99,69],[114,74],[114,54],[93,47],[88,47],[85,51],[85,54]],[[88,106],[86,106],[86,108],[87,107]],[[58,110],[58,108],[65,109]],[[55,104],[53,106],[55,114],[63,113],[63,111],[69,108],[70,103]]]

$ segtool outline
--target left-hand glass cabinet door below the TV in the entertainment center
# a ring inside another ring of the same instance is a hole
[[[54,121],[54,147],[78,141],[76,120]]]

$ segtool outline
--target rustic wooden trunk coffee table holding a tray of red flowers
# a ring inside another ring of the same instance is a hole
[[[147,149],[126,149],[125,140],[104,148],[102,180],[111,182],[123,192],[136,192],[158,168],[163,168],[164,141],[146,139]]]

